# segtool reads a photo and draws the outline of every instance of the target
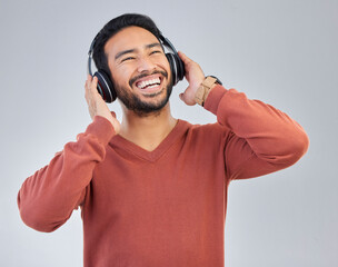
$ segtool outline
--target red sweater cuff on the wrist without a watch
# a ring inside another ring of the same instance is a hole
[[[106,146],[116,132],[108,119],[96,116],[93,117],[93,121],[87,127],[84,135],[96,136],[98,140]]]

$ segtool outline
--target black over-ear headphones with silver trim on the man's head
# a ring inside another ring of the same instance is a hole
[[[100,32],[96,36],[96,38],[92,40],[89,51],[88,51],[88,73],[92,77],[98,77],[98,91],[102,96],[103,100],[106,102],[112,102],[117,98],[116,90],[113,88],[112,81],[110,79],[110,76],[102,69],[99,69],[93,75],[91,72],[91,59],[92,59],[92,52],[95,43],[99,37]],[[178,56],[175,47],[172,43],[165,38],[161,33],[159,34],[159,40],[161,42],[161,46],[165,46],[171,50],[171,52],[166,53],[166,57],[170,65],[171,76],[172,76],[172,86],[176,86],[177,82],[182,80],[185,78],[185,63]]]

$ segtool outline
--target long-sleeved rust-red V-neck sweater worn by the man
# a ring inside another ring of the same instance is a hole
[[[80,206],[86,267],[222,267],[229,181],[295,164],[308,137],[286,113],[235,89],[216,86],[205,108],[217,123],[179,120],[153,151],[96,117],[23,182],[22,220],[52,231]]]

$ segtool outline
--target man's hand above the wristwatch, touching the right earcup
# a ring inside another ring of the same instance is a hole
[[[195,101],[196,91],[206,77],[201,67],[197,62],[192,61],[190,58],[188,58],[185,53],[180,51],[178,52],[178,56],[185,63],[186,79],[189,82],[189,86],[187,87],[186,91],[180,93],[180,99],[185,103],[189,106],[193,106],[196,105]]]

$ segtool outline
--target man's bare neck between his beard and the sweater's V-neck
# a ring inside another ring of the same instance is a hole
[[[177,123],[177,119],[171,116],[169,102],[160,111],[141,117],[122,108],[123,119],[119,135],[148,151],[156,149]]]

